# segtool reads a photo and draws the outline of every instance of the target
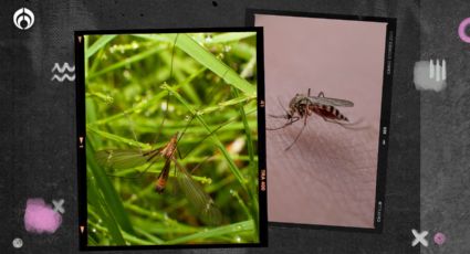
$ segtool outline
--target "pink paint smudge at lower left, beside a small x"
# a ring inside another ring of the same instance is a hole
[[[24,213],[24,227],[31,233],[54,233],[62,224],[62,215],[45,204],[43,199],[29,199]]]

